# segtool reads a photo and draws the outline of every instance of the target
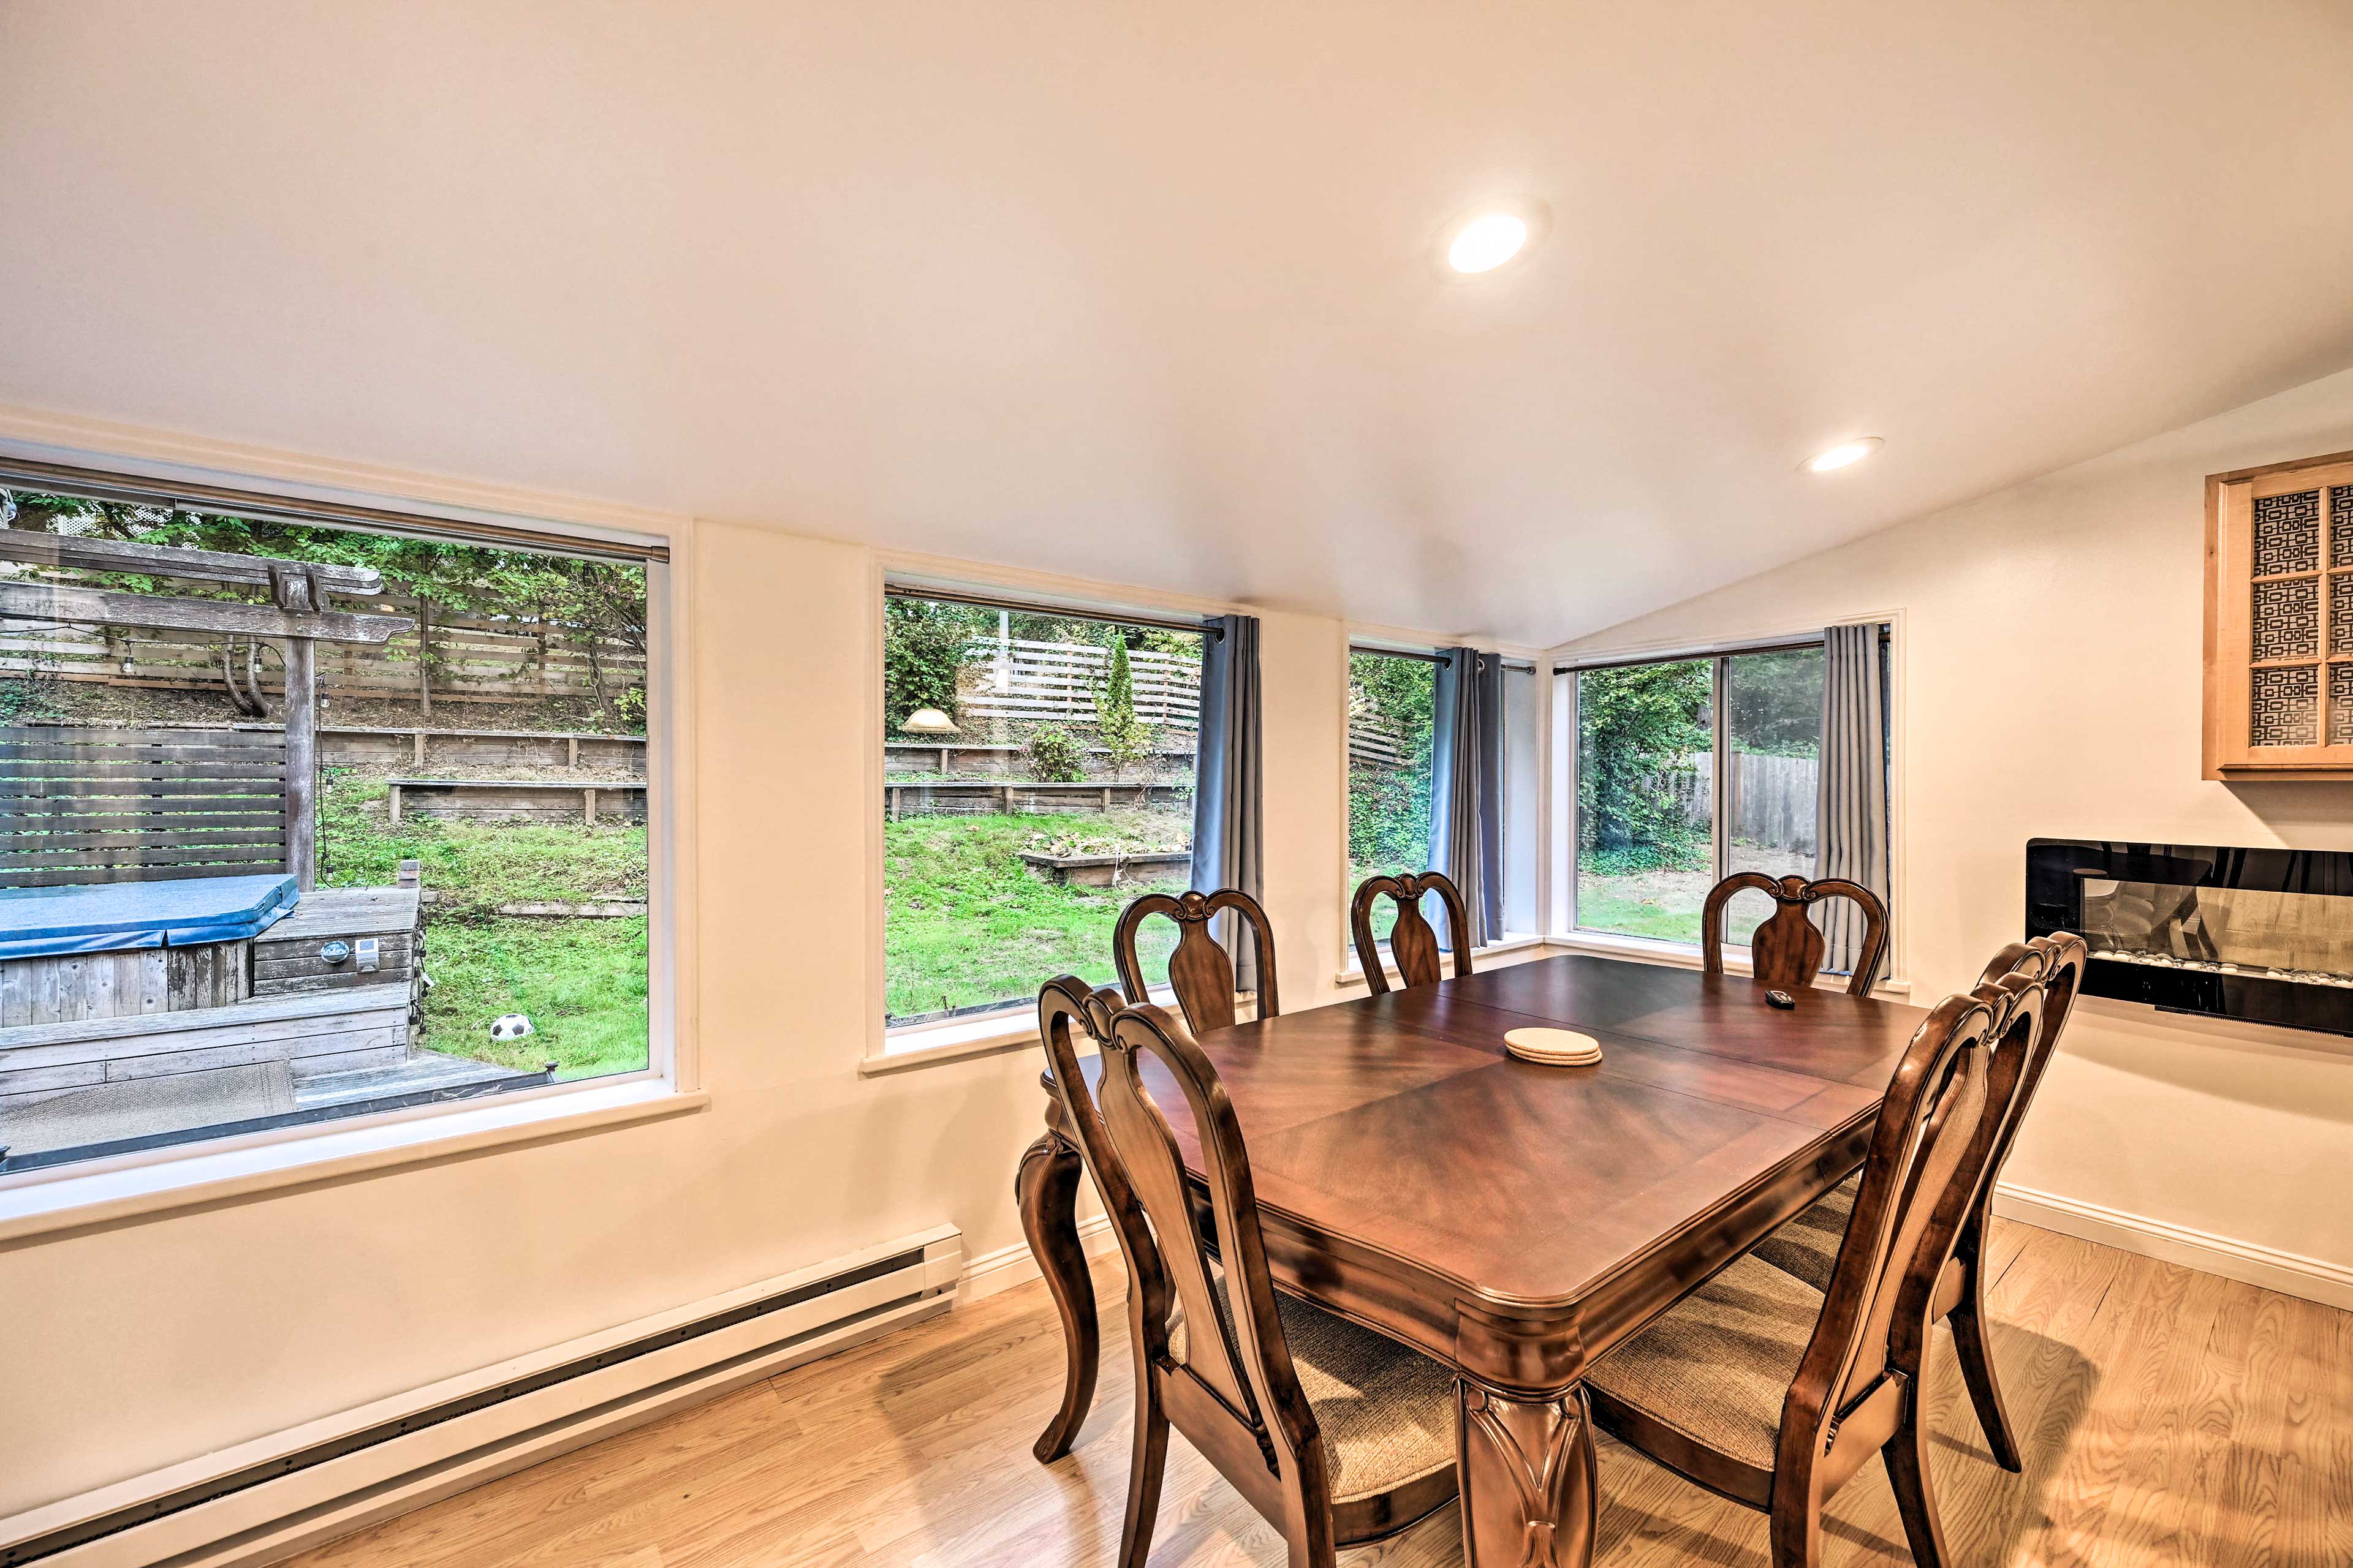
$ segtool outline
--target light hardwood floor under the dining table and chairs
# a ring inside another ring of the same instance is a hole
[[[1998,1222],[1993,1352],[2026,1474],[1986,1458],[1939,1331],[1929,1408],[1958,1563],[2353,1563],[2353,1314]],[[320,1547],[304,1568],[1108,1566],[1127,1483],[1118,1258],[1096,1267],[1104,1385],[1078,1448],[1028,1455],[1061,1342],[1042,1284]],[[1602,1443],[1598,1563],[1765,1568],[1765,1516]],[[1155,1568],[1282,1544],[1169,1441]],[[1341,1563],[1461,1561],[1454,1512]],[[1828,1509],[1826,1568],[1911,1563],[1875,1465]]]

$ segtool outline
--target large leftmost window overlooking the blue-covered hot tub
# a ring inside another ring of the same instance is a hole
[[[0,487],[0,1168],[649,1067],[659,548]]]

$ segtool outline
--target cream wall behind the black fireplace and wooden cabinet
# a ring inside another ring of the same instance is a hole
[[[2353,371],[1569,646],[1687,646],[1901,611],[1899,919],[1925,1001],[2024,933],[2028,837],[2353,849],[2353,785],[2205,783],[2198,755],[2202,477],[2346,447]],[[1901,463],[1901,442],[1873,461]],[[2353,1267],[2348,1131],[2353,1044],[2094,999],[2007,1180]]]

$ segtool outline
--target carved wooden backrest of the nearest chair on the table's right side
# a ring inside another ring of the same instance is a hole
[[[2042,983],[2024,976],[1939,1001],[1897,1067],[1871,1133],[1854,1215],[1838,1248],[1821,1321],[1781,1408],[1777,1469],[1835,1486],[1875,1453],[1915,1380],[1929,1298],[2042,1016]],[[1880,1408],[1864,1418],[1861,1406]],[[1831,1425],[1852,1443],[1826,1453]],[[1781,1486],[1777,1479],[1774,1486]]]

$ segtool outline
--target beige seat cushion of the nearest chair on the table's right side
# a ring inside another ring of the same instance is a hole
[[[1593,1366],[1624,1406],[1744,1465],[1772,1469],[1781,1401],[1821,1319],[1821,1291],[1753,1255]]]

